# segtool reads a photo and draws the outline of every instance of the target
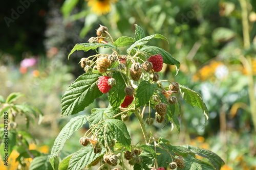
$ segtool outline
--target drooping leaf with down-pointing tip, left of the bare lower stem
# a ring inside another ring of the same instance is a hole
[[[127,150],[131,151],[131,137],[124,122],[118,119],[107,119],[104,126],[105,128],[99,134],[101,136],[105,134],[105,140],[109,145],[111,145],[113,139],[116,139]]]

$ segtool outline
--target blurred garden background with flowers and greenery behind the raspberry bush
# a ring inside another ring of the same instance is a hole
[[[164,65],[160,76],[202,94],[209,111],[206,125],[199,108],[181,105],[180,134],[172,125],[162,129],[161,124],[155,124],[148,127],[155,136],[164,136],[174,145],[192,144],[217,153],[226,163],[222,170],[256,169],[255,12],[254,0],[2,1],[1,100],[20,92],[24,96],[14,103],[34,106],[44,117],[31,115],[35,120],[29,128],[27,114],[16,117],[15,128],[31,135],[22,146],[17,140],[8,168],[1,161],[0,169],[28,169],[30,156],[15,162],[20,148],[50,153],[54,139],[72,118],[61,117],[61,96],[83,74],[80,59],[95,52],[75,52],[69,60],[68,54],[76,43],[95,37],[99,24],[108,27],[114,39],[122,35],[133,37],[135,24],[147,35],[166,36],[169,44],[162,40],[150,43],[168,51],[181,66],[175,76],[175,66]],[[79,114],[108,106],[106,100],[107,95],[103,95]],[[1,104],[1,112],[4,108]],[[3,121],[0,124],[2,135]],[[131,117],[126,125],[132,139],[139,141],[137,121]],[[77,151],[79,138],[87,128],[85,125],[74,133],[63,150]]]

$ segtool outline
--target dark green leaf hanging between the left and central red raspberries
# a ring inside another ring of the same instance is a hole
[[[112,86],[109,91],[109,100],[113,109],[116,109],[121,105],[125,98],[124,88],[126,87],[125,82],[127,82],[127,80],[124,75],[122,76],[120,74],[120,72],[115,72],[113,78],[116,79],[116,84]]]

